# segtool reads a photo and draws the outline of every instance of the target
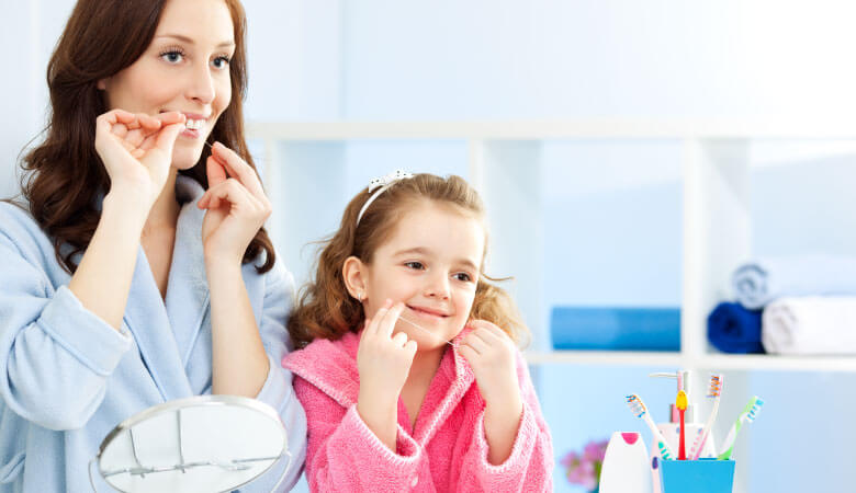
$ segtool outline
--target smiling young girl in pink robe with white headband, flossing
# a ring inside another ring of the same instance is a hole
[[[314,491],[551,491],[552,445],[483,274],[477,194],[397,172],[345,210],[289,319]]]

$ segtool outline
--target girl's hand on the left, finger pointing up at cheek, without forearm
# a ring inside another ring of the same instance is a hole
[[[408,341],[404,332],[393,335],[404,303],[391,305],[387,300],[373,319],[367,320],[360,335],[357,367],[360,371],[359,403],[362,408],[375,402],[397,405],[416,355],[416,341]]]

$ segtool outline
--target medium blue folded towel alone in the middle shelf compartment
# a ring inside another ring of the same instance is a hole
[[[554,307],[556,349],[679,351],[680,309]]]

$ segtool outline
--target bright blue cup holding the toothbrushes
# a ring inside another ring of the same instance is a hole
[[[660,482],[663,493],[731,493],[734,461],[661,460]]]

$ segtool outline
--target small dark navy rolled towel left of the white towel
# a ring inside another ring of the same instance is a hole
[[[719,303],[708,317],[708,340],[723,353],[764,353],[761,313],[740,303]]]

